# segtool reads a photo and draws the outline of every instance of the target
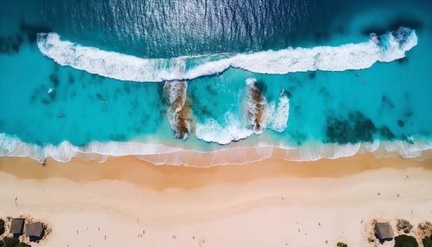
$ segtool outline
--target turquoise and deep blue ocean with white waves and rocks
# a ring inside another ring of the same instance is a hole
[[[420,0],[3,0],[0,155],[424,159],[430,10]]]

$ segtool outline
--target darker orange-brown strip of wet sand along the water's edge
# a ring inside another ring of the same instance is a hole
[[[197,160],[196,162],[199,162]],[[197,188],[211,184],[239,184],[262,179],[263,177],[344,177],[364,170],[380,168],[425,168],[432,170],[432,159],[418,161],[402,157],[376,158],[371,153],[356,154],[339,159],[318,161],[286,161],[269,158],[242,165],[211,167],[190,167],[159,165],[155,166],[137,157],[108,157],[106,161],[84,161],[73,158],[61,163],[52,158],[42,165],[28,157],[0,157],[0,171],[19,179],[66,178],[72,181],[121,180],[138,187]],[[355,164],[355,165],[353,165]]]

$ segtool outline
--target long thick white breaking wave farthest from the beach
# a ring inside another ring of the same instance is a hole
[[[376,62],[401,59],[405,57],[406,51],[416,45],[415,30],[401,27],[397,32],[387,32],[380,37],[371,34],[367,42],[342,46],[287,48],[199,58],[142,59],[61,41],[59,35],[53,32],[37,34],[37,46],[42,54],[62,66],[71,66],[123,81],[139,82],[195,79],[224,72],[228,68],[241,68],[264,74],[360,70],[369,68]],[[190,64],[190,68],[186,69],[186,64]]]

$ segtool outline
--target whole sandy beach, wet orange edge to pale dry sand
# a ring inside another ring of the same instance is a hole
[[[34,246],[369,246],[372,219],[432,221],[431,177],[431,159],[371,154],[211,168],[1,157],[0,217],[47,221]]]

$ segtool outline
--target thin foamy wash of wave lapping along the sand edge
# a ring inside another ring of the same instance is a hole
[[[26,144],[17,137],[0,134],[0,156],[30,157],[43,163],[47,157],[56,161],[68,162],[73,157],[85,160],[103,162],[108,156],[134,155],[144,161],[156,165],[185,166],[218,166],[226,164],[246,164],[260,161],[269,157],[285,159],[288,161],[313,161],[317,159],[337,159],[349,157],[356,153],[372,152],[377,157],[402,155],[404,158],[422,157],[422,151],[432,150],[432,141],[414,139],[414,143],[406,141],[374,141],[366,144],[322,144],[320,141],[310,141],[302,147],[272,146],[259,142],[255,146],[244,146],[244,143],[233,143],[230,146],[219,146],[219,149],[210,152],[185,150],[160,144],[143,144],[139,142],[108,143],[93,142],[84,147],[77,147],[68,141],[57,146],[37,146]]]

